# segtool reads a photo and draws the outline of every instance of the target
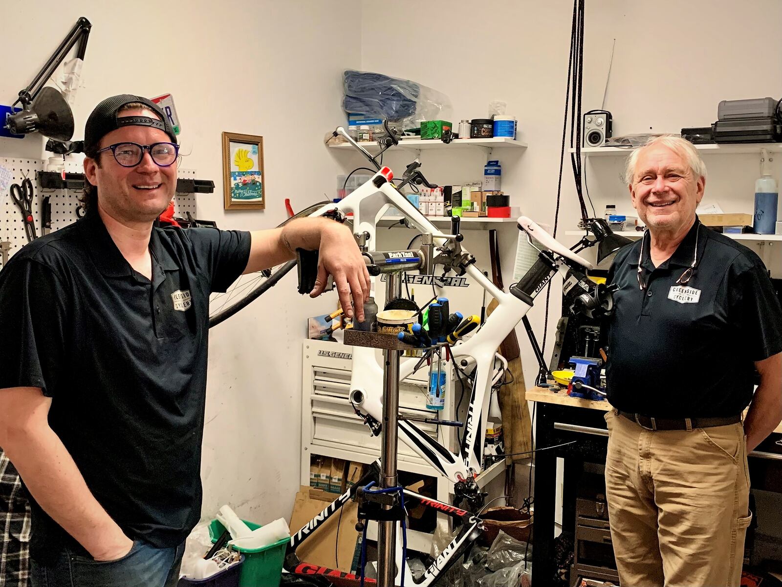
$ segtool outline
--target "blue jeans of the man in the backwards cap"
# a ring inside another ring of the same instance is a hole
[[[119,560],[97,562],[67,549],[51,567],[32,561],[33,587],[176,587],[185,544],[159,549],[143,540]]]

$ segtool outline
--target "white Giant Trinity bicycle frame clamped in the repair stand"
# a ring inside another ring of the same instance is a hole
[[[359,148],[361,149],[361,147]],[[361,150],[369,156],[364,149]],[[389,207],[393,206],[404,214],[407,220],[414,225],[414,228],[421,232],[431,233],[434,236],[436,247],[442,247],[447,243],[447,239],[437,236],[441,233],[393,186],[390,179],[390,169],[383,167],[372,176],[370,181],[361,185],[360,188],[344,200],[337,204],[327,204],[310,215],[313,217],[321,216],[327,211],[333,211],[335,208],[343,214],[352,213],[353,232],[356,234],[367,232],[369,235],[367,242],[369,243],[369,248],[372,249],[376,242],[378,221]],[[565,265],[566,261],[569,261],[571,266],[580,265],[581,268],[592,268],[589,261],[579,257],[579,255],[573,253],[567,247],[558,243],[529,218],[523,216],[518,218],[518,227],[526,232],[530,238],[530,243],[532,243],[531,238],[534,237],[538,243],[543,245],[544,248],[541,250],[541,254],[549,257],[552,267],[551,272],[541,279],[540,285],[536,287],[536,290],[529,294],[529,302],[533,301],[534,297],[543,290],[543,286],[558,272],[563,276],[567,274],[570,267]],[[468,251],[462,247],[462,252],[467,253]],[[470,357],[475,361],[475,370],[472,376],[472,394],[465,421],[465,434],[464,438],[462,438],[459,452],[451,452],[448,448],[440,445],[438,441],[419,430],[409,420],[400,418],[398,425],[399,437],[402,441],[438,470],[440,474],[443,474],[454,483],[476,477],[481,470],[481,456],[485,440],[484,431],[486,430],[486,418],[489,412],[494,358],[497,354],[497,348],[500,347],[500,343],[508,336],[508,333],[515,328],[515,325],[529,312],[529,308],[532,308],[531,303],[526,303],[526,301],[522,301],[515,295],[497,288],[474,264],[468,265],[466,273],[475,283],[478,283],[479,286],[497,300],[498,305],[492,314],[486,318],[480,330],[468,340],[459,341],[451,348],[454,362],[461,357]],[[375,286],[375,278],[372,278],[372,285],[373,287]],[[413,373],[417,362],[418,359],[413,358],[400,364],[400,380]],[[371,416],[378,422],[382,422],[382,381],[383,372],[381,366],[375,360],[375,351],[371,348],[354,347],[350,392],[352,396],[353,391],[361,391],[363,400],[358,403],[354,402],[353,405],[362,414]],[[311,532],[316,530],[328,517],[331,517],[335,510],[350,499],[349,494],[350,492],[341,495],[339,499],[323,510],[314,520],[310,521],[309,524],[292,536],[290,548],[293,552],[295,552],[298,544],[303,542]],[[434,503],[432,500],[429,501]],[[445,506],[445,504],[439,505],[441,507]],[[466,514],[464,511],[458,511]],[[395,585],[401,584],[403,569],[405,585],[417,585],[418,587],[432,585],[441,577],[443,569],[453,563],[454,556],[464,552],[467,542],[471,539],[472,531],[479,527],[479,518],[471,517],[469,524],[443,549],[437,560],[426,569],[421,581],[414,582],[409,567],[402,560],[401,534],[399,525],[397,525],[397,573]]]

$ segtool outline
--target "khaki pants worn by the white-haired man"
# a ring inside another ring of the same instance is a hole
[[[647,430],[605,416],[608,517],[622,587],[737,587],[749,525],[741,423]]]

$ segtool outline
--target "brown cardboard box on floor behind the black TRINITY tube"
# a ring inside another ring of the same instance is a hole
[[[335,493],[324,492],[321,489],[302,486],[296,494],[296,502],[293,503],[293,513],[291,514],[290,528],[292,532],[297,532],[304,524],[307,524],[318,513],[326,509],[329,503],[333,502],[339,495]],[[296,556],[302,562],[317,564],[321,567],[338,569],[339,571],[350,572],[353,563],[353,552],[356,549],[358,540],[358,531],[356,523],[358,521],[358,506],[355,502],[347,502],[343,506],[342,521],[339,521],[339,512],[332,515],[325,524],[317,528],[312,538],[306,540],[298,549]],[[339,544],[334,548],[337,538],[337,528],[339,526]],[[339,556],[339,560],[335,558]]]

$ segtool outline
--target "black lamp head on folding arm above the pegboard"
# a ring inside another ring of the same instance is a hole
[[[30,105],[8,117],[5,127],[14,135],[40,132],[58,141],[68,141],[74,135],[74,114],[70,106],[55,88],[46,87]]]

